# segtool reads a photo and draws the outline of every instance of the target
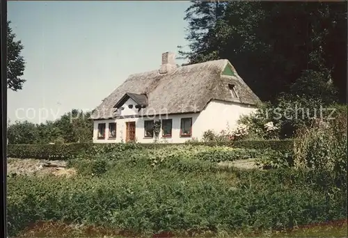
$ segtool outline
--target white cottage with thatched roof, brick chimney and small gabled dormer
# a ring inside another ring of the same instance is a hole
[[[184,143],[233,129],[260,102],[228,60],[178,67],[162,54],[157,70],[132,74],[92,113],[95,143]]]

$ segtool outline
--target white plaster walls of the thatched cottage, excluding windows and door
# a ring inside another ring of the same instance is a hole
[[[123,116],[134,115],[125,114],[134,113],[129,111],[128,106],[125,106]],[[126,111],[126,109],[128,109]],[[137,109],[136,109],[137,110]],[[200,113],[191,114],[177,114],[169,116],[156,116],[152,118],[122,118],[115,120],[95,120],[93,129],[93,142],[94,143],[120,143],[125,142],[126,139],[126,122],[136,122],[136,142],[139,143],[152,143],[154,138],[144,137],[144,120],[161,120],[172,119],[172,137],[162,138],[162,132],[159,132],[159,143],[184,143],[192,138],[202,138],[203,133],[208,129],[212,129],[214,132],[221,132],[223,129],[234,129],[237,126],[237,120],[242,115],[247,115],[256,111],[253,106],[246,106],[244,104],[237,104],[232,102],[212,101],[207,104],[206,108]],[[192,136],[181,137],[180,136],[180,122],[181,118],[192,118]],[[109,139],[109,122],[116,122],[116,138]],[[104,139],[97,139],[98,123],[106,123],[106,136]]]

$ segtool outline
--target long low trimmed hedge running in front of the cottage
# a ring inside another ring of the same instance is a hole
[[[225,143],[190,143],[191,145],[230,146],[233,148],[291,150],[292,140],[286,141],[234,141]],[[67,143],[67,144],[9,144],[8,157],[33,159],[69,159],[81,152],[102,154],[104,152],[122,152],[124,150],[163,148],[183,145],[182,143]]]

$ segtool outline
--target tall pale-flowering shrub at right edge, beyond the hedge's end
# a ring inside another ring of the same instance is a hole
[[[347,173],[347,114],[334,120],[313,120],[294,140],[296,168],[315,168],[333,173]]]

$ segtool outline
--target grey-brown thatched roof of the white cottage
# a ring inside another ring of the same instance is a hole
[[[226,65],[230,65],[235,76],[221,75]],[[228,84],[235,86],[238,98],[232,97]],[[126,93],[134,97],[146,94],[148,105],[142,114],[148,116],[199,112],[211,100],[251,105],[260,102],[228,60],[217,60],[182,66],[166,74],[160,74],[159,70],[132,74],[97,106],[91,118],[117,117],[114,106]]]

